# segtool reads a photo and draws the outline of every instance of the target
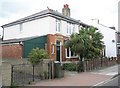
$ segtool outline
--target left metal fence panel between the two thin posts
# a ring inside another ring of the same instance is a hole
[[[33,80],[33,66],[19,64],[12,66],[12,83],[15,85],[29,84]]]

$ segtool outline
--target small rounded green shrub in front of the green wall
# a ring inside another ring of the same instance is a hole
[[[44,49],[35,48],[28,55],[28,61],[33,65],[38,64],[42,59],[49,59],[49,55]]]

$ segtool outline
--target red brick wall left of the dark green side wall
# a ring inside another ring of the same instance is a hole
[[[20,44],[2,45],[2,58],[22,58],[22,47]]]

